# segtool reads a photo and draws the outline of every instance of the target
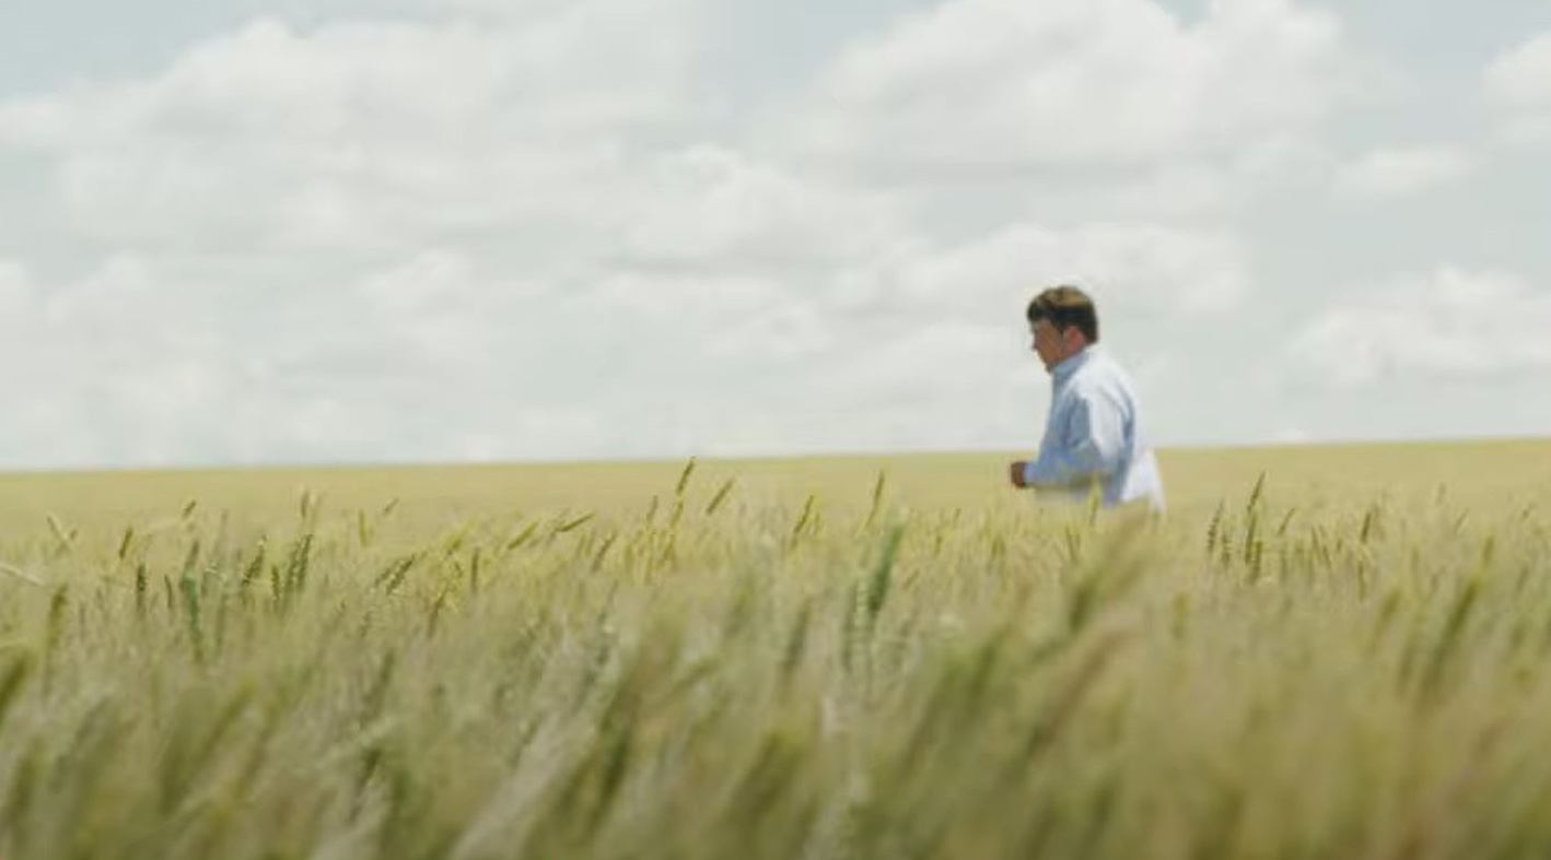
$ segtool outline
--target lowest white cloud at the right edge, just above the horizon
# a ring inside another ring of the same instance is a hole
[[[1329,307],[1287,350],[1294,375],[1362,389],[1393,378],[1483,378],[1551,369],[1551,290],[1441,268]]]

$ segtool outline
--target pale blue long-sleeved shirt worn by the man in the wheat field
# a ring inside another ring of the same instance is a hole
[[[1104,505],[1146,501],[1163,510],[1163,477],[1142,431],[1131,377],[1090,346],[1052,370],[1050,418],[1024,483],[1086,497],[1103,482]]]

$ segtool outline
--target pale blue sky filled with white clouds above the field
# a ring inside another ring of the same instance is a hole
[[[0,468],[1551,434],[1551,0],[0,12]]]

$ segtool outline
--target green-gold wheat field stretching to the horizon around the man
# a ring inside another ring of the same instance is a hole
[[[1551,445],[0,477],[0,860],[1542,857]]]

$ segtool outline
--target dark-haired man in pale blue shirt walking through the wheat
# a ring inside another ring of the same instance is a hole
[[[1104,507],[1163,510],[1163,479],[1142,432],[1131,377],[1098,346],[1098,311],[1076,287],[1052,287],[1028,304],[1028,330],[1053,380],[1039,459],[1011,466],[1013,485],[1086,497]]]

